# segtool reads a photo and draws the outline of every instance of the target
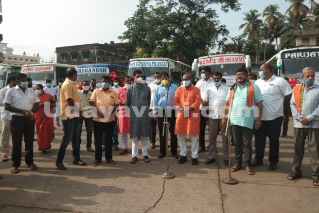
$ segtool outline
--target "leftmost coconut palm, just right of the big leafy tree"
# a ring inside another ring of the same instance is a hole
[[[249,12],[244,12],[244,21],[246,23],[239,26],[239,29],[244,29],[244,33],[248,33],[247,41],[253,37],[259,36],[259,27],[262,26],[262,21],[259,19],[260,13],[258,10],[250,10]]]

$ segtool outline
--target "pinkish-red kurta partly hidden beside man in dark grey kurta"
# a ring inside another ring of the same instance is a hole
[[[126,87],[120,87],[116,91],[118,96],[118,102],[126,102],[126,93],[128,89]],[[124,110],[123,110],[124,109]],[[117,115],[117,123],[118,123],[118,131],[120,133],[128,133],[130,132],[130,117],[126,116],[130,115],[130,112],[125,106],[119,106],[119,111]]]

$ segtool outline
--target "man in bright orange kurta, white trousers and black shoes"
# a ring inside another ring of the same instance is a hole
[[[191,81],[191,75],[185,74],[183,76],[184,86],[179,87],[175,92],[174,106],[179,109],[175,134],[180,141],[181,158],[179,164],[184,164],[187,161],[186,135],[189,135],[191,139],[192,165],[197,165],[201,92],[199,88],[192,86]]]

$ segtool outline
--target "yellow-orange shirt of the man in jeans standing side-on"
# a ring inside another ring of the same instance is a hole
[[[69,107],[67,99],[73,99],[75,106],[78,109],[81,109],[81,99],[75,86],[74,81],[65,79],[64,83],[61,86],[61,120],[67,120],[67,118],[72,119],[79,117],[79,114],[74,112],[74,110],[67,109]]]

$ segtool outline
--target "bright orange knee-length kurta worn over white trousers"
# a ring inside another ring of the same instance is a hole
[[[194,108],[189,112],[189,117],[184,117],[180,110],[178,110],[175,134],[188,134],[198,135],[200,133],[200,105],[201,105],[201,92],[196,86],[186,88],[185,86],[179,87],[175,92],[174,106],[179,109],[182,107],[184,110],[187,107]]]

